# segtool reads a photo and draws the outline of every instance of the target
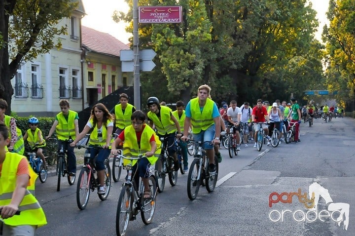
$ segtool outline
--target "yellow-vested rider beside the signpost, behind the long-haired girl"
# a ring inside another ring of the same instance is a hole
[[[113,120],[115,122],[116,134],[120,134],[122,130],[131,124],[131,116],[136,111],[136,108],[128,103],[128,95],[121,93],[119,95],[120,104],[115,105]]]

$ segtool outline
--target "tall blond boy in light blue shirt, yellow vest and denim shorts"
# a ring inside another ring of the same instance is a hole
[[[204,142],[206,156],[209,158],[209,172],[215,174],[216,166],[214,163],[213,145],[219,144],[220,137],[220,115],[217,105],[210,96],[211,87],[207,84],[201,85],[197,89],[197,97],[191,99],[186,106],[186,118],[184,123],[184,135],[182,140],[187,139],[188,127],[192,124],[194,141]],[[205,143],[211,141],[212,145]]]

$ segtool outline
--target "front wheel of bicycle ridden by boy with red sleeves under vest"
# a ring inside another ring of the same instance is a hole
[[[116,235],[124,236],[132,214],[133,196],[131,188],[123,185],[116,211]]]

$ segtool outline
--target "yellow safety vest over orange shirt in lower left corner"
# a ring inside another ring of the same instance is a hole
[[[26,158],[16,153],[6,153],[2,163],[1,178],[0,178],[0,205],[8,205],[11,202],[13,192],[16,188],[16,173],[18,164],[22,158]],[[26,159],[27,161],[27,159]],[[14,215],[8,219],[1,219],[5,225],[35,225],[43,226],[47,224],[45,214],[42,207],[33,196],[31,191],[35,190],[35,181],[38,176],[32,168],[30,171],[30,185],[27,187],[25,197],[19,205],[20,215]]]

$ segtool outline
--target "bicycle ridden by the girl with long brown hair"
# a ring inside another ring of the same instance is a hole
[[[76,145],[75,147],[78,149],[85,148],[88,150],[93,148],[102,148],[101,146],[88,147],[82,145]],[[76,204],[80,210],[85,209],[89,201],[90,191],[94,192],[95,189],[98,189],[100,187],[99,179],[97,177],[97,171],[95,169],[96,168],[95,158],[90,159],[90,153],[84,154],[84,165],[80,170],[80,174],[78,176],[78,182],[76,185]],[[101,200],[107,199],[111,187],[111,169],[109,166],[109,156],[106,157],[104,161],[104,165],[105,165],[104,183],[106,185],[106,193],[105,194],[98,193],[99,198]]]

